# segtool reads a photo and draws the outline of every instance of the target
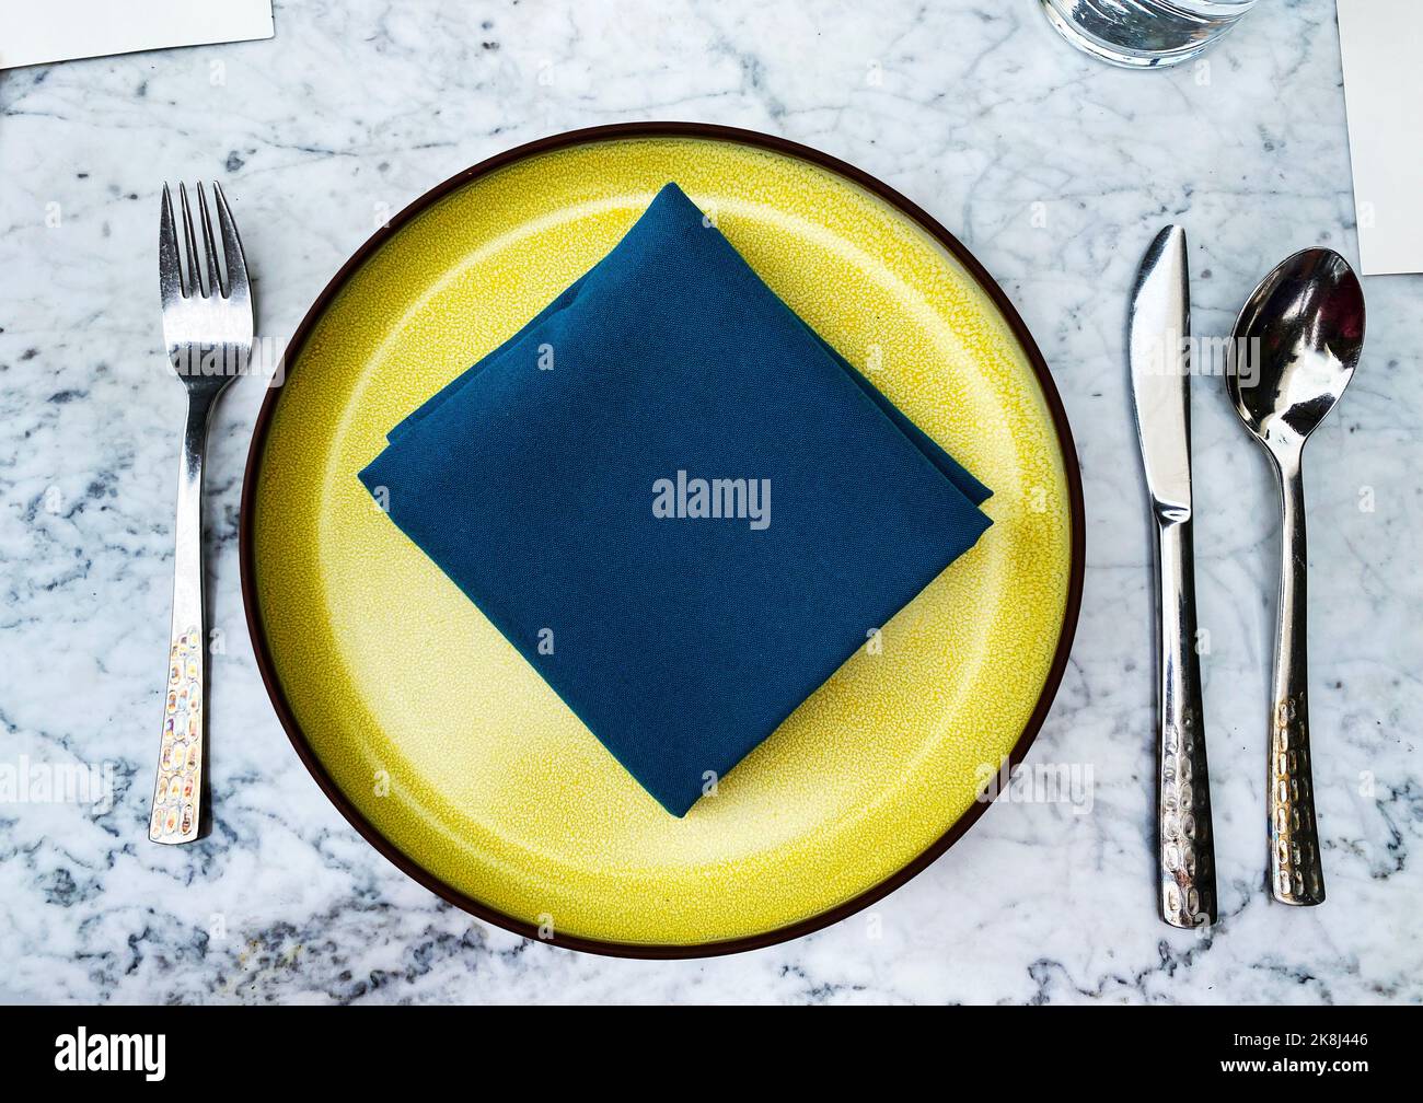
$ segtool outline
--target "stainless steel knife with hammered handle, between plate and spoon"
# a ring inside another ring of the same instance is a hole
[[[1137,272],[1127,356],[1155,531],[1161,918],[1195,928],[1215,922],[1215,854],[1195,652],[1190,333],[1185,231],[1165,226]]]

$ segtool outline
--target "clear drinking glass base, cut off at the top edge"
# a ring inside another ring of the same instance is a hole
[[[1130,68],[1187,61],[1255,6],[1255,0],[1039,0],[1079,50]]]

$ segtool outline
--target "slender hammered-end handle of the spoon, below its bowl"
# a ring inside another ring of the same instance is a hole
[[[1309,771],[1305,649],[1305,481],[1299,451],[1275,457],[1284,507],[1279,621],[1269,723],[1269,885],[1281,904],[1323,904],[1325,874]]]

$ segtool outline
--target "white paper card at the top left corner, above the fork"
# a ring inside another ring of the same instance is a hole
[[[272,37],[272,0],[0,0],[0,68]]]

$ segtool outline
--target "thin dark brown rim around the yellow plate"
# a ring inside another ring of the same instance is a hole
[[[481,161],[478,165],[467,168],[464,172],[451,176],[444,184],[431,188],[428,192],[410,204],[404,211],[391,218],[386,226],[373,233],[370,241],[361,245],[360,249],[357,249],[351,258],[342,265],[342,269],[332,278],[330,283],[327,283],[322,293],[316,296],[316,302],[312,303],[312,309],[306,312],[306,317],[303,317],[302,323],[296,327],[296,333],[292,336],[292,342],[286,347],[286,354],[282,363],[287,370],[290,370],[290,367],[296,363],[317,319],[320,319],[320,316],[330,306],[332,299],[346,285],[346,280],[363,263],[366,263],[366,260],[373,256],[391,238],[391,235],[397,233],[407,222],[444,196],[458,188],[462,188],[474,179],[478,179],[480,176],[495,172],[497,169],[517,161],[536,157],[538,154],[546,154],[552,149],[564,149],[571,145],[628,138],[706,138],[710,141],[736,142],[740,145],[768,149],[785,157],[794,157],[800,161],[807,161],[844,176],[914,219],[922,229],[925,229],[945,249],[948,249],[949,253],[973,276],[973,279],[978,280],[985,295],[989,296],[998,310],[1003,315],[1003,319],[1007,322],[1009,329],[1012,329],[1013,336],[1027,357],[1027,361],[1032,364],[1033,373],[1037,376],[1037,384],[1043,391],[1043,400],[1047,404],[1047,410],[1053,420],[1053,428],[1057,433],[1057,441],[1062,448],[1063,471],[1067,478],[1067,492],[1072,498],[1072,576],[1067,586],[1067,605],[1063,609],[1062,633],[1057,639],[1057,650],[1053,655],[1053,663],[1047,672],[1047,679],[1043,682],[1043,690],[1037,697],[1037,704],[1035,706],[1032,716],[1029,716],[1022,736],[1019,736],[1017,743],[1009,753],[1009,767],[1012,769],[1022,761],[1027,749],[1037,737],[1037,732],[1042,729],[1043,720],[1047,717],[1047,710],[1052,706],[1059,685],[1062,683],[1062,676],[1067,666],[1067,655],[1072,650],[1073,636],[1077,630],[1077,613],[1081,606],[1086,527],[1083,522],[1081,471],[1077,464],[1076,444],[1073,443],[1072,428],[1067,426],[1067,414],[1063,410],[1062,399],[1057,394],[1057,389],[1053,386],[1047,364],[1043,361],[1043,354],[1039,352],[1037,343],[1027,332],[1027,326],[1023,324],[1023,319],[1019,317],[1017,310],[1009,302],[1007,296],[998,286],[993,278],[958,241],[958,238],[949,233],[924,209],[902,196],[894,188],[889,188],[874,176],[861,172],[854,165],[848,165],[844,161],[830,157],[828,154],[822,154],[807,145],[800,145],[798,142],[791,142],[770,134],[740,130],[736,127],[721,127],[710,122],[618,122],[605,127],[588,127],[583,130],[566,131],[564,134],[555,134],[548,138],[527,142],[525,145],[497,154],[487,161]],[[462,908],[485,922],[502,927],[504,929],[512,931],[514,934],[522,935],[531,941],[545,942],[565,949],[578,949],[588,954],[645,959],[710,958],[721,954],[740,954],[748,949],[761,949],[778,942],[787,942],[814,931],[824,929],[850,915],[854,915],[857,911],[869,907],[875,901],[882,899],[889,892],[899,888],[899,885],[905,884],[909,878],[928,868],[935,858],[962,838],[989,807],[989,801],[975,801],[969,810],[965,811],[963,816],[961,816],[953,825],[943,833],[943,835],[919,854],[919,857],[901,867],[896,872],[891,874],[879,884],[861,892],[858,897],[788,927],[778,927],[773,931],[764,931],[761,934],[746,935],[743,938],[726,939],[721,942],[609,942],[561,934],[554,934],[552,936],[545,938],[534,925],[515,919],[514,917],[491,908],[472,897],[464,895],[440,878],[434,877],[418,862],[413,861],[388,838],[377,831],[374,825],[371,825],[370,821],[361,816],[356,806],[351,804],[346,794],[332,780],[330,774],[326,773],[326,767],[316,757],[316,751],[312,749],[310,743],[307,743],[306,736],[302,732],[302,726],[297,723],[296,714],[286,699],[282,683],[277,680],[276,666],[268,649],[266,632],[262,625],[262,613],[258,608],[252,519],[256,510],[258,473],[262,465],[268,430],[272,426],[272,417],[276,411],[280,393],[280,387],[272,387],[262,403],[260,411],[258,413],[256,426],[252,431],[252,447],[248,453],[248,467],[242,481],[242,508],[239,514],[238,541],[239,555],[242,559],[242,603],[246,608],[248,632],[252,638],[252,648],[256,652],[258,669],[262,672],[262,682],[266,685],[268,695],[272,697],[272,706],[276,709],[282,727],[286,729],[286,734],[292,740],[292,747],[296,750],[297,757],[300,757],[306,769],[312,773],[312,777],[316,779],[316,784],[322,787],[327,800],[330,800],[332,804],[340,810],[342,816],[350,821],[351,827],[354,827],[376,850],[384,854],[396,865],[396,868],[407,877],[418,881],[435,895],[450,904],[454,904],[457,908]]]

